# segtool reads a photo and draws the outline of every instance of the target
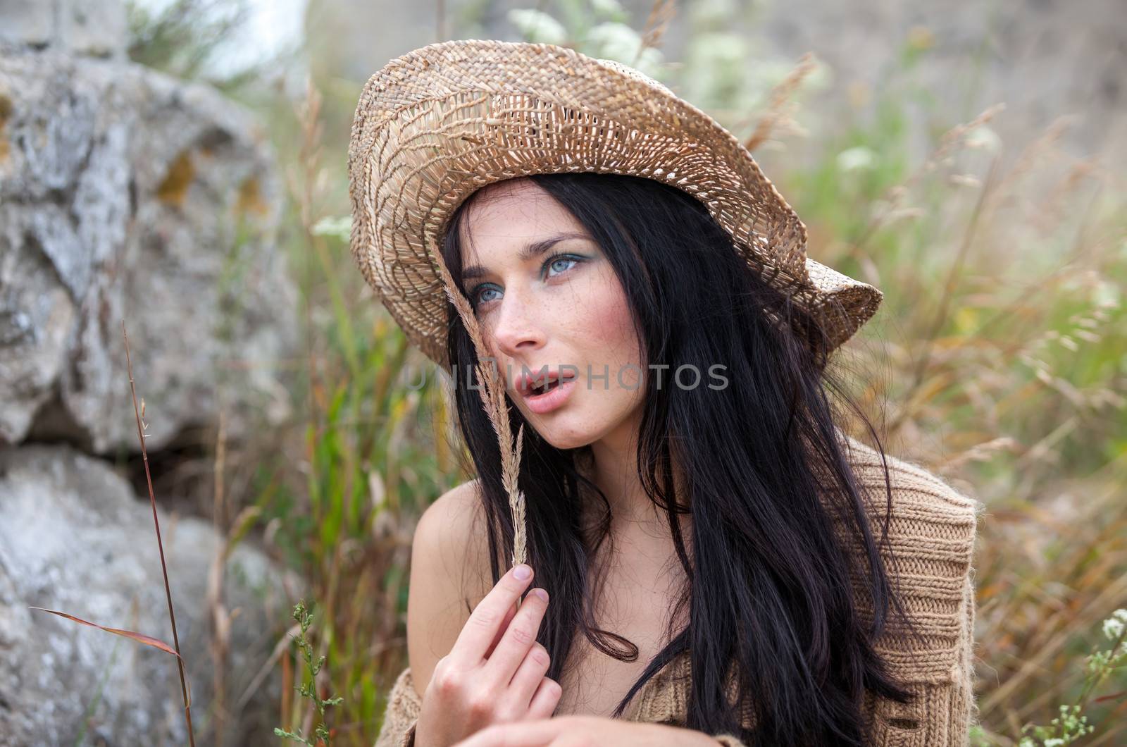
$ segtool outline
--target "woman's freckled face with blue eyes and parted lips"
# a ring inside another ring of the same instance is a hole
[[[625,293],[600,246],[527,178],[482,187],[465,222],[463,287],[524,418],[560,449],[630,438],[645,377]],[[525,388],[524,376],[545,374],[565,384]]]

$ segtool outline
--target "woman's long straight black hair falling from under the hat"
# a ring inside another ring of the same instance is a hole
[[[875,438],[876,431],[833,380],[829,345],[817,322],[737,254],[731,236],[682,190],[611,174],[530,178],[603,248],[629,300],[644,369],[666,364],[668,378],[680,366],[706,371],[721,363],[729,380],[722,388],[682,388],[645,377],[637,471],[668,518],[685,583],[668,618],[669,643],[614,717],[687,649],[687,728],[736,733],[748,745],[863,744],[863,689],[902,703],[911,697],[873,640],[890,612],[909,627],[911,622],[838,441],[842,402]],[[446,266],[463,293],[460,231],[469,232],[462,223],[474,197],[459,206],[443,243]],[[499,447],[479,392],[467,386],[464,372],[478,362],[473,343],[449,301],[447,313],[459,427],[479,477],[496,583],[503,559],[513,552]],[[638,647],[597,627],[593,616],[601,574],[592,560],[609,536],[611,511],[606,496],[577,468],[589,447],[558,449],[518,408],[509,410],[514,438],[526,425],[518,483],[526,500],[529,562],[538,585],[552,595],[539,634],[551,656],[547,676],[559,680],[577,633],[607,656],[636,660]],[[684,484],[678,481],[675,490],[678,474]],[[890,513],[887,466],[885,482]],[[580,521],[585,495],[604,506],[594,535]],[[680,515],[691,517],[687,550]],[[835,521],[844,522],[860,553],[843,545]],[[863,579],[871,625],[859,612],[852,578]],[[685,606],[689,623],[674,630]],[[730,676],[738,682],[739,709],[727,696]],[[748,714],[753,729],[742,723]]]

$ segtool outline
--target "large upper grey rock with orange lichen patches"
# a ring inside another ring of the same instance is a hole
[[[273,164],[254,116],[206,86],[0,56],[0,443],[139,448],[123,319],[150,449],[220,406],[232,439],[286,415],[273,364],[296,293]]]

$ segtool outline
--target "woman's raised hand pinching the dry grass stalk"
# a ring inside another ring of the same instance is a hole
[[[517,577],[521,570],[527,578]],[[527,565],[509,569],[438,659],[415,727],[418,747],[449,747],[490,724],[547,719],[556,710],[562,691],[544,676],[551,658],[536,642],[548,594],[533,589],[516,609],[531,582]]]

